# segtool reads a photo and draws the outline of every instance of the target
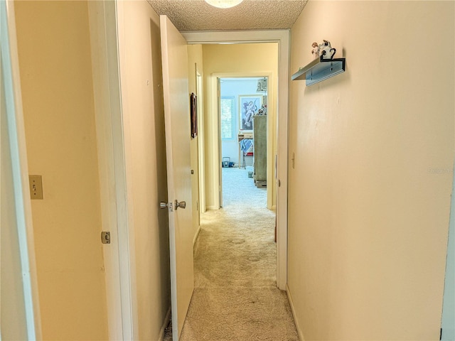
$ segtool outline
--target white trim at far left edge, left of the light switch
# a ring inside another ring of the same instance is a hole
[[[28,340],[42,340],[14,1],[0,1],[0,43],[1,67],[5,83],[6,117],[14,182],[18,247],[21,254],[26,333]]]

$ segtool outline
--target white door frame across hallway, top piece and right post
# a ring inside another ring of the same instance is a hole
[[[182,32],[188,44],[278,43],[277,112],[277,286],[287,285],[287,156],[289,117],[289,30]]]

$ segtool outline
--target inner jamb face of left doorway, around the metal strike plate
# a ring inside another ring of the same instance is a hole
[[[112,10],[112,9],[111,9]],[[95,102],[95,124],[97,130],[98,172],[100,180],[100,202],[102,231],[109,231],[111,243],[102,246],[105,266],[107,301],[107,326],[109,340],[122,340],[122,293],[119,274],[119,239],[117,229],[117,206],[111,193],[114,188],[114,151],[112,147],[111,99],[109,98],[109,66],[107,63],[107,31],[104,1],[89,1],[90,44],[92,48],[93,94]],[[112,33],[111,34],[116,34]],[[111,67],[112,69],[112,67]],[[112,70],[110,70],[112,72]]]

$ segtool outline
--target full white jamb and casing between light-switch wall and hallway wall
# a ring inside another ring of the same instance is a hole
[[[135,340],[134,255],[124,153],[117,1],[89,1],[109,340]]]

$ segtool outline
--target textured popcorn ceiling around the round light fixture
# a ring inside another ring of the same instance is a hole
[[[178,31],[236,31],[291,28],[307,0],[244,0],[230,9],[217,9],[204,0],[147,1]]]

